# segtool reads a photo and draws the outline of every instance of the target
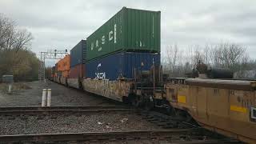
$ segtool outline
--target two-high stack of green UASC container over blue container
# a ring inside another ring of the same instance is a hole
[[[160,64],[160,11],[123,7],[87,38],[86,77],[132,78]]]

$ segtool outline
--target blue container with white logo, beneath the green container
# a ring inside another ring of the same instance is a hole
[[[160,65],[160,54],[121,52],[104,58],[86,62],[86,78],[115,80],[119,76],[133,78],[133,70],[150,70]]]

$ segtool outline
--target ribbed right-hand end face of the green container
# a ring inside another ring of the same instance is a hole
[[[161,12],[124,9],[124,46],[127,50],[160,52]]]

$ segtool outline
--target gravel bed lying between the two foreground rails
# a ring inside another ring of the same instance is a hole
[[[106,132],[122,130],[156,130],[159,126],[147,122],[136,114],[82,114],[27,119],[0,117],[0,134],[50,134]]]

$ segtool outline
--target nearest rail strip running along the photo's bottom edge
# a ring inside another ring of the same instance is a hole
[[[238,143],[230,139],[213,139],[202,135],[202,129],[134,130],[100,133],[0,135],[0,143]]]

